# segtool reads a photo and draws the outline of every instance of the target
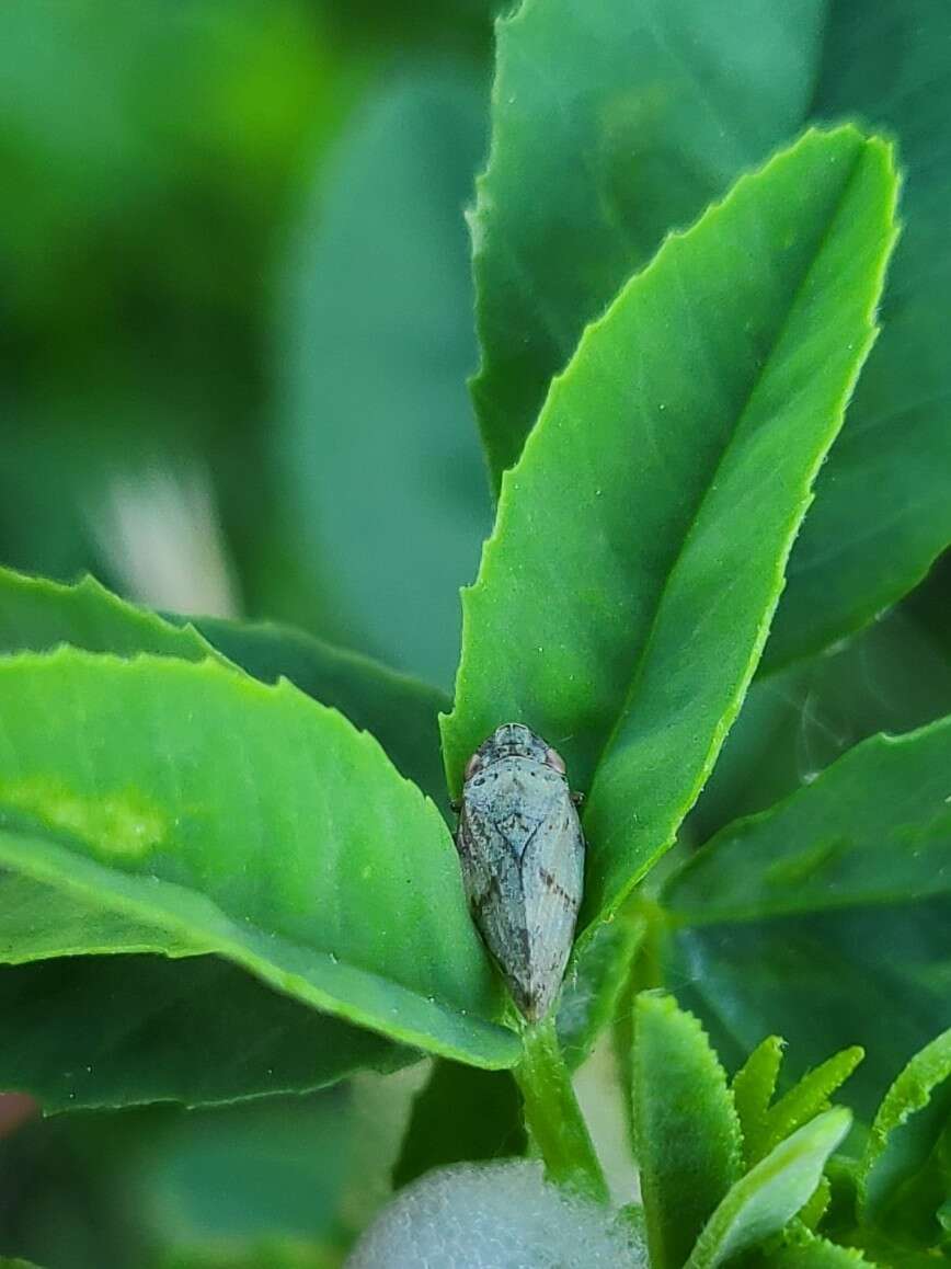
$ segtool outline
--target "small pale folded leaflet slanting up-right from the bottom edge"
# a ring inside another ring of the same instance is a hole
[[[780,1142],[723,1199],[697,1239],[687,1269],[714,1269],[779,1233],[809,1200],[851,1122],[848,1110],[827,1110]]]

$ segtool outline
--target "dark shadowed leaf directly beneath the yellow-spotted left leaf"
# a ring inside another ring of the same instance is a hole
[[[301,1093],[415,1057],[212,956],[85,954],[5,966],[0,1008],[15,1020],[0,1051],[0,1084],[32,1093],[47,1114]]]

